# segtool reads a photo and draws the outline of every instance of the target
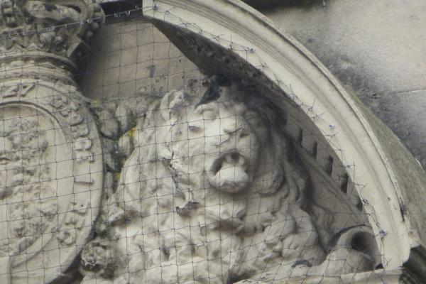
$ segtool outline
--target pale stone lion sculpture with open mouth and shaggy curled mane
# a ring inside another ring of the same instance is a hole
[[[256,88],[217,76],[202,94],[149,100],[109,207],[114,283],[279,283],[371,269],[358,254],[327,268],[304,209],[307,174],[283,114]]]

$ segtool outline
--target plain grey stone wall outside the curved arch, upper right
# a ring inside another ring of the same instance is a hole
[[[265,2],[253,4],[320,59],[425,168],[426,3]]]

